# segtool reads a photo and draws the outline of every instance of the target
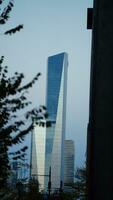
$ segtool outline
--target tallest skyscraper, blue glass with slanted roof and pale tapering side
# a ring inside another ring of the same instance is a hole
[[[59,188],[64,181],[67,69],[67,53],[48,58],[46,105],[51,127],[46,132],[45,174],[51,166],[53,189]]]

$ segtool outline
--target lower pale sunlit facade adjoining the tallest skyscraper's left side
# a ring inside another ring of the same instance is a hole
[[[31,177],[37,179],[44,190],[46,127],[34,122],[31,141]]]

